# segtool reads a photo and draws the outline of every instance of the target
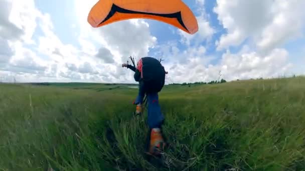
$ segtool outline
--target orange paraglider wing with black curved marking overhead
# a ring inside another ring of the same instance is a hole
[[[182,0],[99,0],[90,10],[88,22],[100,27],[131,18],[159,20],[190,34],[198,31],[195,15]]]

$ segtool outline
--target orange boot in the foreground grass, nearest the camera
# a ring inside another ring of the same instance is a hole
[[[150,132],[149,153],[159,155],[164,150],[165,142],[160,128],[153,128]]]

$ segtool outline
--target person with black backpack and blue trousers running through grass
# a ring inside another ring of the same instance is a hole
[[[161,112],[158,92],[164,86],[165,74],[167,72],[160,61],[153,57],[140,58],[136,67],[126,63],[123,63],[122,67],[133,70],[135,72],[134,80],[139,82],[138,95],[134,101],[134,104],[136,104],[136,114],[141,114],[143,98],[145,93],[147,95],[147,122],[150,131],[149,153],[158,155],[160,150],[163,150],[165,146],[161,133],[164,115]]]

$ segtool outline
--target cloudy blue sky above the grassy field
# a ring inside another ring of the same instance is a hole
[[[135,83],[130,55],[162,57],[166,83],[305,74],[305,0],[183,1],[193,35],[149,19],[93,28],[97,0],[0,0],[0,81]]]

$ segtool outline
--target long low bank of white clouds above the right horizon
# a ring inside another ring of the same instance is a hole
[[[221,78],[226,80],[278,76],[290,69],[288,57],[288,52],[279,48],[266,55],[249,51],[248,48],[238,53],[226,51],[221,60],[214,65],[204,57],[190,57],[186,63],[167,65],[167,68],[170,68],[167,81],[211,81],[218,79],[219,71],[222,73]]]

